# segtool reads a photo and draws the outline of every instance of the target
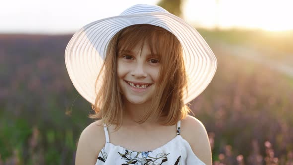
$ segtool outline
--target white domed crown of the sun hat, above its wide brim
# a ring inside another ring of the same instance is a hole
[[[160,6],[137,4],[132,7],[129,7],[128,9],[123,11],[120,15],[133,15],[133,14],[151,13],[151,12],[169,13],[167,10],[163,9]]]

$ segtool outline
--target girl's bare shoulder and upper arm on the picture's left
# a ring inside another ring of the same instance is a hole
[[[100,120],[88,125],[81,133],[76,151],[76,165],[94,165],[105,145],[104,127]]]

